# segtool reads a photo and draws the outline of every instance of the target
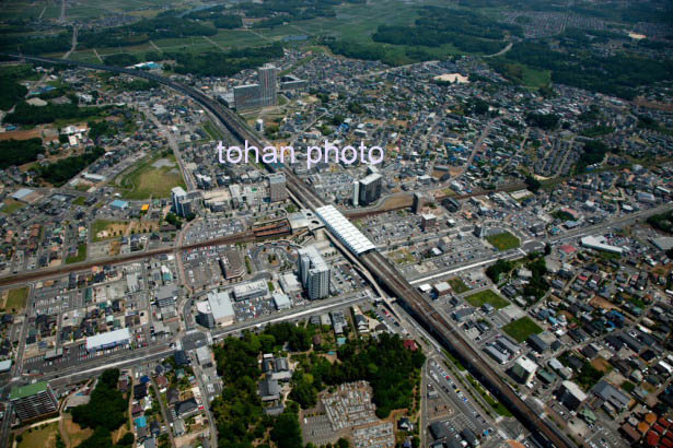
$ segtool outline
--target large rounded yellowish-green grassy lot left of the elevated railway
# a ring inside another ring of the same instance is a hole
[[[161,160],[167,161],[172,166],[166,166],[165,163],[161,167],[154,166]],[[173,187],[185,188],[183,175],[173,154],[143,160],[121,176],[118,185],[121,186],[121,196],[126,199],[169,198]]]

